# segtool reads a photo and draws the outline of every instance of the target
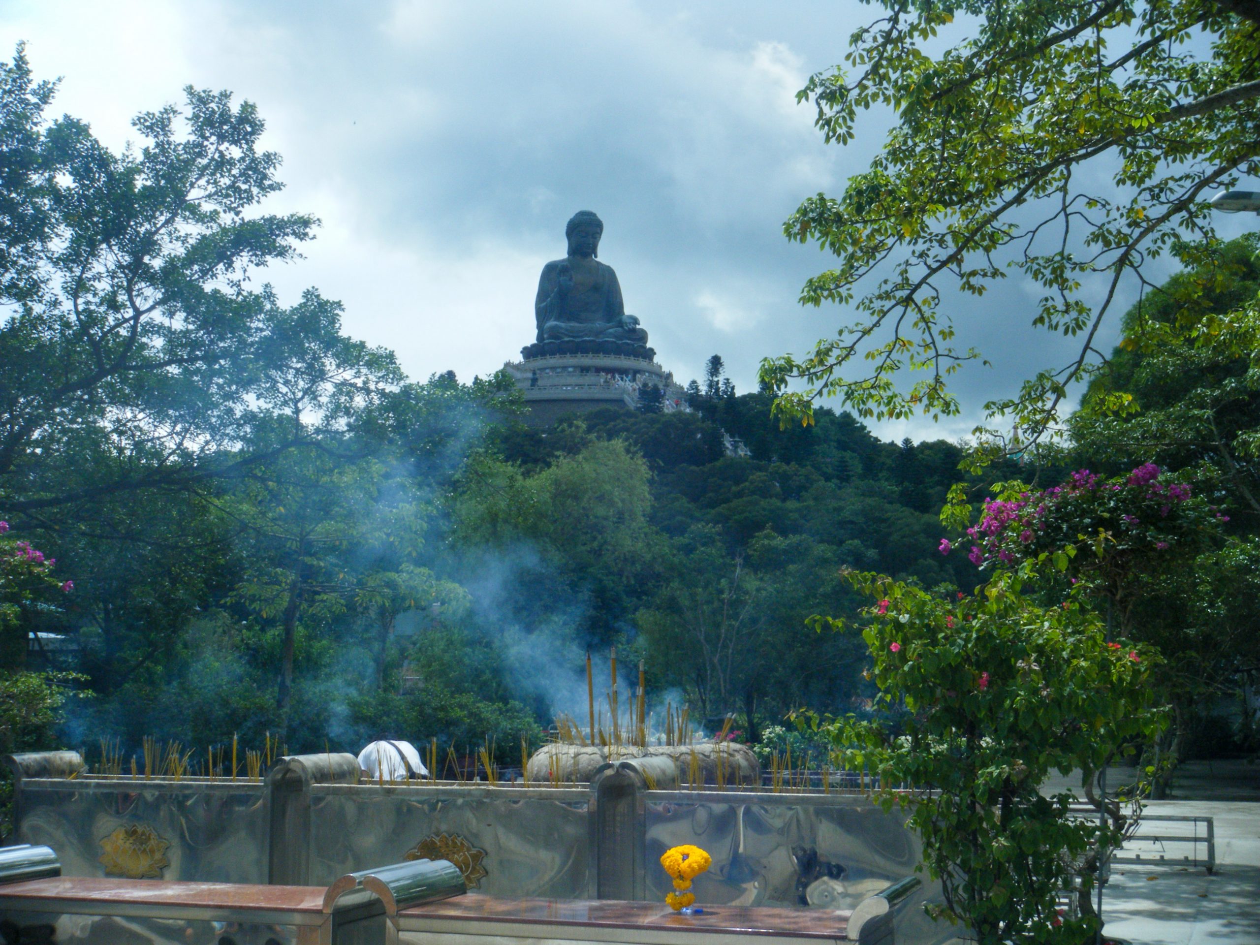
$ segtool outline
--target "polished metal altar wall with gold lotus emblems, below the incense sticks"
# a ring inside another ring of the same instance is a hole
[[[9,764],[13,842],[52,847],[66,876],[326,885],[430,858],[491,896],[659,901],[660,854],[693,843],[713,857],[702,902],[852,908],[920,857],[903,818],[863,796],[675,790],[668,760],[557,788],[359,782],[353,755],[282,759],[266,782],[32,777],[38,765]]]

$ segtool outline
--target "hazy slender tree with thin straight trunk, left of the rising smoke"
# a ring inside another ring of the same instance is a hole
[[[340,306],[314,291],[273,314],[257,364],[262,404],[251,440],[257,459],[226,508],[251,546],[238,596],[278,630],[276,704],[284,717],[301,617],[344,611],[350,588],[330,552],[354,534],[381,476],[370,450],[339,431],[402,374],[392,353],[341,335]]]

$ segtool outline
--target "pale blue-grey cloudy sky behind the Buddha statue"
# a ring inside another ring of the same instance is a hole
[[[748,391],[762,357],[801,353],[842,318],[798,305],[829,257],[781,228],[883,140],[887,116],[871,115],[854,144],[824,146],[795,103],[872,16],[853,0],[0,0],[0,53],[25,39],[37,77],[62,77],[53,113],[116,147],[189,83],[256,102],[285,161],[268,209],[323,223],[305,260],[266,277],[290,302],[311,285],[341,300],[346,330],[413,378],[519,358],[538,272],[591,209],[658,360],[685,381],[718,353]],[[994,362],[958,382],[966,416],[877,432],[954,438],[1046,367],[1055,340],[1026,328],[1040,294],[1012,278],[958,299],[963,345]]]

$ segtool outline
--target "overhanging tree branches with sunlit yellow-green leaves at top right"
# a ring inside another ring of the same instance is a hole
[[[983,455],[1026,452],[1068,387],[1096,372],[1123,281],[1144,281],[1160,253],[1201,261],[1216,242],[1206,198],[1260,171],[1260,8],[882,5],[887,14],[852,35],[847,67],[813,76],[798,98],[816,105],[828,141],[848,144],[871,107],[895,110],[896,125],[840,197],[810,198],[784,228],[838,257],[801,301],[856,302],[858,318],[805,357],[766,359],[761,377],[785,421],[808,422],[827,394],[862,417],[958,413],[949,375],[983,355],[953,345],[960,316],[948,300],[982,295],[1013,270],[1045,291],[1032,326],[1081,339],[1066,364],[987,406]],[[878,281],[859,295],[868,276]],[[863,360],[869,370],[854,370]],[[896,384],[903,368],[922,379]],[[794,379],[803,386],[789,389]],[[1018,432],[992,428],[1002,417]]]

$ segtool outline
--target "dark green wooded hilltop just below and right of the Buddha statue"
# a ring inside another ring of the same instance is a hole
[[[537,470],[591,438],[622,438],[651,472],[651,523],[670,537],[699,524],[743,548],[762,530],[834,546],[853,567],[926,586],[974,577],[936,553],[937,513],[958,483],[961,450],[944,440],[900,445],[849,413],[823,407],[811,427],[780,430],[769,394],[701,398],[692,413],[606,410],[538,431],[498,437],[504,459]],[[751,457],[727,456],[722,433]]]

